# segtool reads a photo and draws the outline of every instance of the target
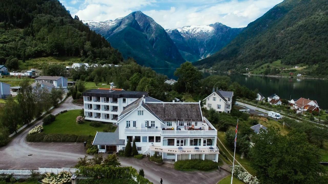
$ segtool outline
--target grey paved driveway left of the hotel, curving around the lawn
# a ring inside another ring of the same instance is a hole
[[[51,114],[63,110],[82,109],[72,103],[68,97]],[[35,125],[42,123],[38,120],[33,126],[27,127],[15,136],[7,146],[0,148],[0,169],[35,169],[38,167],[71,167],[77,158],[85,155],[83,143],[72,142],[27,142],[26,135]],[[32,156],[28,156],[33,154]]]

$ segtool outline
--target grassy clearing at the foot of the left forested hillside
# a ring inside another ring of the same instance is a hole
[[[19,69],[29,70],[31,68],[41,69],[44,64],[60,64],[63,66],[71,66],[73,63],[80,63],[79,57],[41,57],[19,61]]]

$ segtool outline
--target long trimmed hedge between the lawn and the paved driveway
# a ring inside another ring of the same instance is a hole
[[[26,140],[29,142],[85,142],[90,136],[77,136],[70,134],[29,134]]]

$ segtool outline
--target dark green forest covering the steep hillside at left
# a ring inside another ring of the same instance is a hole
[[[57,0],[0,1],[0,7],[0,64],[10,69],[18,69],[18,59],[45,56],[80,56],[82,63],[123,60]]]

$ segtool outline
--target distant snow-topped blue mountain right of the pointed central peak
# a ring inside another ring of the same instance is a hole
[[[233,40],[243,28],[230,28],[221,23],[166,29],[182,57],[187,61],[204,59]]]

